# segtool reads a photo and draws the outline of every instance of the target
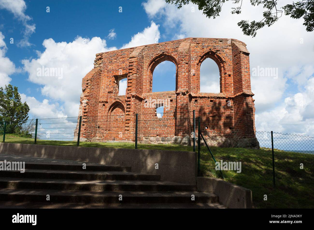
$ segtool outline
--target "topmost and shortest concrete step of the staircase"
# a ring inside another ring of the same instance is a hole
[[[25,162],[25,169],[130,172],[131,166],[102,165],[102,164],[96,164],[96,163],[86,163],[86,169],[83,169],[83,163],[80,164],[80,163]]]

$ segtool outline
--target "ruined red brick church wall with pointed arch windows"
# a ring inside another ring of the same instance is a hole
[[[206,58],[213,59],[219,67],[220,93],[200,93],[200,66]],[[154,68],[165,60],[176,65],[176,90],[152,92]],[[119,81],[123,78],[127,78],[126,95],[118,96]],[[255,139],[249,52],[246,44],[236,39],[186,38],[96,54],[94,69],[83,78],[82,89],[81,138],[87,140],[134,140],[135,113],[141,114],[142,120],[160,120],[154,114],[155,106],[145,106],[153,99],[168,102],[165,112],[173,119],[168,124],[163,121],[163,128],[148,136],[171,139],[190,135],[189,111],[195,110],[201,116],[201,130],[206,136],[226,138],[236,134]],[[106,122],[100,123],[98,116],[106,117]],[[107,127],[110,122],[121,125],[112,129]],[[145,124],[148,130],[152,126],[149,122]],[[171,127],[167,135],[165,127]]]

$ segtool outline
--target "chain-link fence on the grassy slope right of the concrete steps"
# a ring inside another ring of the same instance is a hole
[[[217,137],[208,138],[206,142],[219,162],[241,162],[244,174],[256,177],[256,180],[266,180],[273,185],[273,156],[276,183],[289,186],[291,181],[283,180],[292,176],[299,183],[313,183],[314,176],[314,138],[294,134],[256,132],[256,138]],[[203,140],[201,146],[204,146]],[[207,151],[202,147],[203,151]],[[202,160],[202,159],[201,159]],[[248,172],[245,170],[252,170]],[[263,172],[262,175],[254,173]],[[212,170],[213,171],[213,170]],[[214,174],[217,174],[213,171]],[[228,177],[230,171],[224,174]],[[231,174],[234,174],[232,172]],[[310,178],[307,178],[310,176]],[[230,175],[230,178],[232,176]]]

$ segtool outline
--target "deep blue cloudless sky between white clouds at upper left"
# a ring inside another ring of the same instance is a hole
[[[93,4],[86,4],[88,1],[25,1],[27,8],[26,15],[30,15],[30,23],[36,25],[36,31],[29,41],[33,45],[20,48],[15,44],[9,44],[10,38],[17,42],[23,38],[22,30],[24,25],[14,18],[13,13],[1,9],[1,30],[5,36],[8,46],[7,57],[12,60],[17,68],[23,68],[22,59],[36,57],[35,50],[43,52],[43,40],[52,38],[55,42],[71,42],[77,36],[83,38],[100,37],[106,39],[108,46],[119,47],[130,41],[134,31],[143,30],[150,25],[145,10],[140,1],[123,1],[122,13],[118,12],[121,4],[118,2],[94,1]],[[50,13],[46,13],[46,7],[50,7]],[[136,13],[134,13],[136,12]],[[129,20],[132,18],[132,20]],[[109,30],[119,34],[116,39],[107,39]],[[28,74],[23,72],[14,73],[10,76],[10,82],[19,87],[21,93],[30,94],[38,100],[43,100],[40,87],[28,81]],[[31,93],[28,93],[28,88]],[[78,98],[79,100],[79,98]]]

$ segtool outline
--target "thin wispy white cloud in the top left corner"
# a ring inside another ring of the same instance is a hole
[[[35,32],[35,24],[29,24],[32,18],[25,14],[26,4],[24,0],[0,0],[0,8],[6,9],[14,14],[14,17],[21,21],[25,27],[23,39],[18,43],[20,47],[31,46],[29,42],[30,35]]]

